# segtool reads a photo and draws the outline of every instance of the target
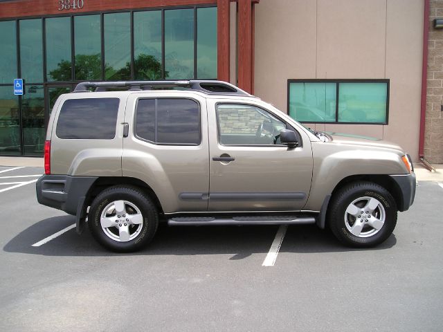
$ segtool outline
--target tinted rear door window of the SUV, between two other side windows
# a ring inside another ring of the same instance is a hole
[[[157,144],[199,145],[199,104],[180,98],[138,100],[136,136]]]

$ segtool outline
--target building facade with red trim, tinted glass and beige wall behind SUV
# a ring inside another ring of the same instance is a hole
[[[78,82],[219,79],[316,130],[443,163],[438,17],[443,0],[0,1],[0,154],[41,156]]]

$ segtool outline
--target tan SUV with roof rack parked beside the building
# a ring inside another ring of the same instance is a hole
[[[80,83],[55,103],[44,156],[39,203],[119,252],[160,221],[316,223],[375,246],[415,196],[399,146],[311,131],[220,81]]]

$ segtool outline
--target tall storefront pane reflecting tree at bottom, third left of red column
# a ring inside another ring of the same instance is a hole
[[[161,80],[161,10],[134,12],[134,75]]]

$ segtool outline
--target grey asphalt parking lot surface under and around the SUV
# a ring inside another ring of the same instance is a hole
[[[163,226],[107,252],[37,203],[42,172],[0,167],[0,331],[443,331],[441,183],[419,182],[378,248],[289,226],[263,266],[277,226]]]

